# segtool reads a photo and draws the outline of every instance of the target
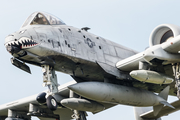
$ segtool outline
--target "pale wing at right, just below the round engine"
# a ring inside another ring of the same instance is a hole
[[[173,45],[179,45],[179,43],[174,43],[172,46],[170,46],[169,44],[169,42],[165,42],[163,44],[158,44],[149,47],[141,53],[138,53],[136,55],[133,55],[131,57],[117,62],[116,67],[122,71],[132,71],[139,69],[139,62],[146,62],[149,65],[152,65],[154,62],[159,63],[160,61],[162,62],[162,65],[179,63],[180,54],[178,53],[178,49],[176,49],[177,53],[172,53],[174,50],[171,51],[170,49]]]

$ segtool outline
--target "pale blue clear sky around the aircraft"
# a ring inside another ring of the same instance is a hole
[[[149,46],[152,30],[160,24],[180,26],[179,0],[3,0],[0,4],[0,104],[40,93],[42,71],[32,66],[32,74],[19,70],[10,63],[12,57],[4,47],[5,37],[22,26],[35,11],[45,11],[61,18],[67,25],[90,27],[89,32],[117,44],[144,51]],[[57,73],[58,82],[73,80],[69,75]],[[169,101],[177,100],[170,97]],[[93,115],[88,120],[135,120],[133,107],[118,105]],[[163,120],[176,119],[179,111]],[[37,118],[32,118],[37,120]]]

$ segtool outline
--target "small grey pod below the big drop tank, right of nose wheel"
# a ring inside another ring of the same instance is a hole
[[[88,111],[88,112],[100,112],[104,110],[104,106],[90,100],[80,98],[67,98],[61,101],[61,104],[72,110]]]

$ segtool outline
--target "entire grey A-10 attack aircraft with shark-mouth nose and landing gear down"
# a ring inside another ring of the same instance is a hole
[[[136,120],[159,120],[180,109],[179,100],[166,101],[168,95],[180,98],[179,26],[157,26],[141,53],[88,30],[35,12],[6,37],[12,64],[28,73],[25,63],[42,67],[48,90],[1,105],[0,119],[86,120],[87,111],[95,114],[123,104],[135,106]],[[59,85],[55,71],[74,81]]]

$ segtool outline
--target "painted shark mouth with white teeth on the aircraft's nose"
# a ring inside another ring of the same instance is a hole
[[[38,43],[36,43],[34,40],[27,38],[27,37],[22,37],[19,40],[15,41],[10,41],[5,44],[5,46],[15,46],[20,49],[25,49],[25,48],[31,48],[34,46],[37,46]]]

